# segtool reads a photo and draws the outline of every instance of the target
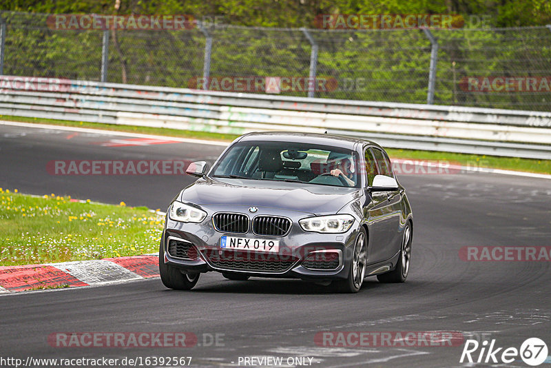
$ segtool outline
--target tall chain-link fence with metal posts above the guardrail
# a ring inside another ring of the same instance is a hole
[[[551,110],[551,27],[59,30],[47,14],[0,16],[5,75]]]

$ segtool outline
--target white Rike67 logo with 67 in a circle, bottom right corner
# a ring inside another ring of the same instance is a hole
[[[495,339],[479,343],[477,340],[466,340],[459,362],[470,363],[512,363],[519,358],[527,365],[541,365],[548,357],[548,348],[540,338],[526,339],[520,349],[516,347],[497,347]]]

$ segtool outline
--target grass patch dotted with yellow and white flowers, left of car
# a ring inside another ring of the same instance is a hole
[[[0,188],[0,265],[158,252],[163,216],[144,207],[43,197]]]

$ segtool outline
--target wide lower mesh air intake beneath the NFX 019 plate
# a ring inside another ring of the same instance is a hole
[[[298,260],[293,256],[222,249],[205,249],[202,254],[214,267],[252,272],[285,272]]]

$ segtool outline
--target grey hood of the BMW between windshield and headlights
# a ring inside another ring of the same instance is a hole
[[[358,188],[242,179],[200,178],[180,193],[196,205],[273,207],[309,214],[334,214],[361,196]]]

